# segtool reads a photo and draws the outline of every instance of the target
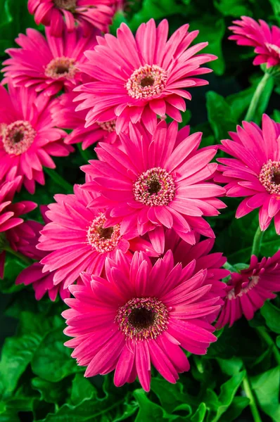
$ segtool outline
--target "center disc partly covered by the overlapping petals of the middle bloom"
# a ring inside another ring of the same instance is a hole
[[[97,252],[104,253],[113,250],[119,243],[120,224],[113,227],[103,227],[106,217],[103,213],[99,214],[91,223],[87,231],[87,241]]]

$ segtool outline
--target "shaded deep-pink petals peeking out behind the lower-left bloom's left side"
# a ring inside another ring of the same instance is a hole
[[[44,222],[47,224],[49,219],[47,219],[45,215],[46,207],[42,207],[41,211]],[[36,248],[38,238],[40,236],[39,233],[42,231],[42,229],[44,229],[44,225],[34,221],[29,221],[25,224],[30,227],[34,233],[34,236],[28,239],[27,245],[21,248],[20,252],[23,253],[23,255],[32,258],[32,260],[40,261],[47,255],[47,252]],[[52,301],[56,300],[58,293],[63,300],[65,298],[69,298],[70,291],[68,288],[64,288],[63,283],[59,283],[55,286],[53,283],[54,273],[49,271],[43,272],[43,267],[44,265],[40,262],[34,262],[34,264],[30,265],[30,267],[27,267],[21,271],[15,281],[15,284],[24,284],[25,286],[32,284],[36,300],[41,300],[45,293],[48,293],[49,298]]]

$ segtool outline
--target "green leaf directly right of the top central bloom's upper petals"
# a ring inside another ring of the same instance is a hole
[[[217,56],[217,60],[211,61],[208,66],[217,75],[223,75],[225,63],[222,53],[222,39],[226,30],[224,19],[217,19],[217,16],[204,15],[201,20],[191,20],[190,30],[199,30],[196,43],[208,41],[208,46],[202,52]]]

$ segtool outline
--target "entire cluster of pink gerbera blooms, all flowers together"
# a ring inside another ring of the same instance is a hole
[[[208,43],[190,46],[198,31],[184,25],[167,39],[167,21],[150,20],[135,37],[125,24],[117,37],[103,35],[113,0],[28,7],[46,38],[27,30],[4,62],[0,276],[7,250],[32,260],[16,283],[32,284],[37,300],[45,293],[65,300],[65,334],[73,337],[65,344],[87,366],[85,376],[115,370],[115,385],[138,376],[148,391],[153,364],[175,383],[189,370],[182,349],[205,354],[217,340],[218,315],[219,328],[242,314],[253,318],[280,290],[279,253],[253,256],[223,283],[226,258],[210,253],[215,234],[205,219],[225,207],[222,196],[242,196],[236,217],[260,207],[260,228],[274,218],[280,234],[280,125],[267,115],[262,129],[243,122],[220,147],[233,158],[212,162],[218,146],[199,148],[202,134],[177,124],[191,100],[185,89],[207,84],[201,75],[211,70],[201,65],[216,58],[200,53]],[[236,23],[233,38],[256,47],[256,64],[279,65],[279,28]],[[36,204],[14,203],[15,192],[44,184],[51,156],[96,142],[98,160],[82,167],[85,183],[43,207],[45,224],[20,218]]]

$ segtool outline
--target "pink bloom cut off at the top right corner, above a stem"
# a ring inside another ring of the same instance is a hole
[[[254,65],[267,63],[267,68],[280,65],[280,28],[269,25],[264,20],[257,23],[248,16],[242,16],[241,20],[234,20],[234,26],[229,27],[235,35],[229,39],[234,39],[240,46],[255,47],[257,57],[253,61]]]

